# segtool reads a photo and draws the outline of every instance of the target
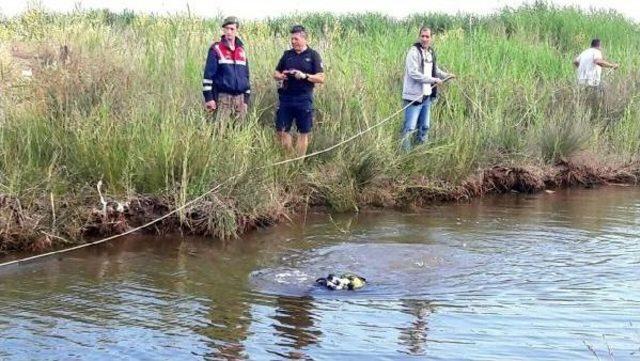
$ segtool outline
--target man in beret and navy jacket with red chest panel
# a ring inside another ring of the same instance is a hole
[[[237,37],[239,22],[229,16],[222,23],[223,36],[209,48],[202,79],[202,94],[209,111],[218,110],[218,117],[247,113],[251,85],[249,63],[244,44]]]

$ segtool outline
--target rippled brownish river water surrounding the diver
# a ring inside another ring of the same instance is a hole
[[[639,359],[639,276],[635,188],[309,214],[0,270],[0,359]]]

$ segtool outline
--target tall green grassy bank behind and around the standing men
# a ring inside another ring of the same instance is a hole
[[[485,170],[504,173],[506,183],[519,174],[533,184],[524,190],[585,179],[633,182],[638,174],[640,27],[619,14],[538,4],[487,17],[316,14],[247,22],[241,35],[253,101],[247,121],[233,129],[212,124],[201,106],[204,58],[219,23],[105,11],[30,11],[2,22],[0,251],[117,232],[243,171],[250,172],[154,230],[230,237],[306,204],[350,211],[504,190],[491,186],[501,181],[489,182]],[[310,30],[326,67],[310,151],[401,107],[405,52],[420,25],[430,25],[441,65],[459,78],[434,108],[431,143],[403,153],[397,116],[304,163],[253,171],[283,158],[273,138],[271,74],[293,23]],[[601,113],[579,106],[571,65],[596,36],[606,57],[621,64],[605,72]],[[573,178],[553,178],[566,169]],[[128,202],[125,212],[114,202]]]

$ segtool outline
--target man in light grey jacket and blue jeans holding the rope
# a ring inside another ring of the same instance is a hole
[[[438,68],[436,53],[431,48],[433,36],[431,29],[420,29],[420,41],[413,44],[407,53],[402,86],[402,99],[405,106],[402,126],[402,147],[411,149],[411,136],[416,132],[416,143],[427,139],[430,126],[431,102],[436,97],[436,87],[446,78],[454,78]]]

